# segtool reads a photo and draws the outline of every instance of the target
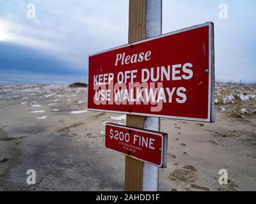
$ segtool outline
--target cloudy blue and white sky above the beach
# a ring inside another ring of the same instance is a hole
[[[35,18],[28,18],[29,3]],[[220,18],[221,3],[227,18]],[[0,84],[86,82],[89,54],[127,43],[128,4],[0,1]],[[214,22],[216,80],[255,82],[255,8],[253,0],[163,0],[163,33]]]

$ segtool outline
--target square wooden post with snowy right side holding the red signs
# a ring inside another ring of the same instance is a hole
[[[162,14],[162,0],[129,0],[129,43],[144,40],[146,36],[150,38],[161,34],[159,31],[161,32],[162,29],[160,25],[162,24],[162,15],[158,13],[159,5],[161,5]],[[154,6],[157,6],[157,8],[154,8]],[[159,17],[161,22],[159,22]],[[154,130],[160,128],[160,120],[152,117],[127,115],[126,120],[127,126],[134,128]],[[150,128],[150,126],[153,128]],[[150,181],[147,177],[143,177],[143,174],[148,175],[148,173],[153,176]],[[150,184],[154,187],[148,186]],[[157,191],[157,189],[158,168],[125,156],[125,191]]]

